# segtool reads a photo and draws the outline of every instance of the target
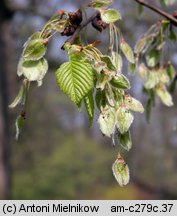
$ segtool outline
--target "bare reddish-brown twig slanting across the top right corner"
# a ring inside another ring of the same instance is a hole
[[[167,13],[167,12],[165,12],[165,11],[155,7],[155,6],[152,6],[152,5],[148,4],[147,2],[145,2],[143,0],[133,0],[133,1],[135,1],[138,4],[141,4],[141,5],[149,8],[150,10],[156,12],[157,14],[160,14],[161,16],[168,19],[174,26],[177,27],[177,19],[173,15],[171,15],[171,14],[169,14],[169,13]]]

